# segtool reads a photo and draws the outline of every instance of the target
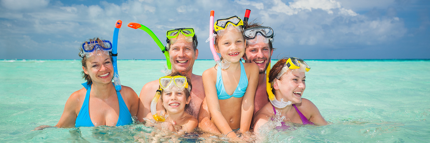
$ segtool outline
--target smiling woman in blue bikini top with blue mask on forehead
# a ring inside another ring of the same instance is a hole
[[[84,88],[74,92],[67,100],[56,127],[120,126],[133,122],[138,110],[138,96],[133,89],[122,86],[115,90],[112,83],[112,43],[98,38],[84,42],[79,56],[82,58]],[[92,90],[91,90],[92,89]],[[50,126],[40,126],[40,130]]]

